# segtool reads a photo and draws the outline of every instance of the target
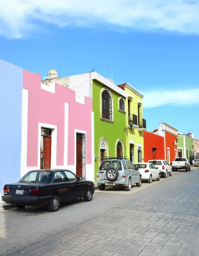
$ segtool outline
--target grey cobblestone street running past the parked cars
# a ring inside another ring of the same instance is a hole
[[[16,215],[35,212],[35,216]],[[173,172],[130,192],[96,190],[58,212],[0,212],[1,256],[197,256],[199,170]]]

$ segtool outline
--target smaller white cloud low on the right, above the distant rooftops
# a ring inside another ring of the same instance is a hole
[[[151,91],[144,93],[144,108],[164,105],[193,106],[199,105],[199,88],[176,91]]]

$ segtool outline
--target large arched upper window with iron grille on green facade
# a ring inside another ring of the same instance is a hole
[[[102,118],[112,120],[112,101],[110,94],[104,90],[101,94]]]

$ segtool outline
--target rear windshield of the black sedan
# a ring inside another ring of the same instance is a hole
[[[18,182],[27,183],[48,183],[50,177],[50,172],[45,171],[32,171],[27,172]]]

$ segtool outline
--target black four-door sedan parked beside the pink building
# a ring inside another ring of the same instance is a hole
[[[76,198],[91,201],[94,191],[92,181],[83,180],[69,170],[41,169],[27,172],[17,183],[6,184],[2,200],[17,208],[47,205],[49,211],[55,212],[63,201]]]

